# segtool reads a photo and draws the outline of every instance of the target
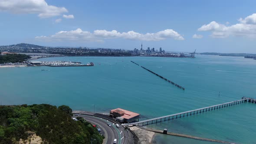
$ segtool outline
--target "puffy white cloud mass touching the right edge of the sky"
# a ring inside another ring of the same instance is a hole
[[[256,13],[247,16],[245,19],[240,18],[239,23],[231,26],[219,24],[215,21],[201,26],[198,31],[210,31],[211,36],[216,38],[225,38],[228,36],[256,37]]]

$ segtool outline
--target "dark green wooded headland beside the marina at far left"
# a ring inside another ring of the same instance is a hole
[[[30,56],[24,54],[7,54],[7,55],[0,55],[0,63],[5,62],[23,62],[25,59],[30,59]]]

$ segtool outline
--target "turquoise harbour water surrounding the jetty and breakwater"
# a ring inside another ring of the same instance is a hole
[[[46,103],[85,111],[94,111],[95,105],[98,113],[124,108],[148,119],[239,100],[243,96],[256,98],[256,60],[243,57],[54,57],[34,61],[57,60],[94,62],[95,66],[0,68],[2,105]],[[185,91],[130,61],[185,87]],[[255,111],[256,104],[243,103],[147,127],[256,144]],[[156,134],[154,141],[212,144],[162,134]]]

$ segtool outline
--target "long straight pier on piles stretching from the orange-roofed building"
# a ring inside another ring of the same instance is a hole
[[[169,121],[170,119],[174,119],[174,118],[181,118],[181,117],[185,117],[185,116],[188,116],[188,115],[195,115],[195,114],[200,114],[200,113],[207,112],[207,111],[213,111],[215,109],[220,109],[220,108],[223,108],[223,107],[225,108],[225,107],[232,106],[232,105],[239,105],[243,102],[247,102],[247,100],[249,102],[256,103],[256,99],[242,97],[241,100],[237,100],[237,101],[226,102],[226,103],[219,104],[219,105],[212,105],[212,106],[209,106],[209,107],[198,108],[198,109],[194,109],[194,110],[191,110],[191,111],[184,111],[184,112],[180,112],[180,113],[173,114],[173,115],[166,115],[166,116],[162,116],[162,117],[158,117],[158,118],[151,118],[151,119],[144,120],[144,121],[126,123],[126,124],[122,124],[122,125],[123,126],[129,126],[129,125],[144,126],[144,125],[148,125],[148,124],[158,123],[158,122],[161,122],[162,120],[163,121],[166,121],[166,120]]]

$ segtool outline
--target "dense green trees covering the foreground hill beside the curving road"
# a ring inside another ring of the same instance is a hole
[[[26,131],[39,135],[44,144],[102,144],[103,137],[84,118],[72,120],[66,105],[0,106],[0,144],[16,144],[27,139]]]

